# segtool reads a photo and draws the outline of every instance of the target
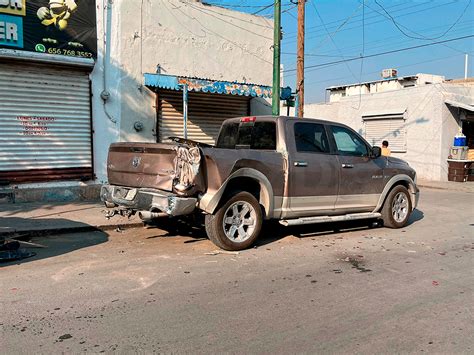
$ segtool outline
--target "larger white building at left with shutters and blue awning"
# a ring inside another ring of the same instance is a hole
[[[0,16],[26,26],[42,2],[15,1]],[[212,142],[229,115],[271,112],[272,20],[200,1],[95,5],[95,59],[51,49],[54,38],[36,52],[0,38],[0,202],[94,196],[110,143],[182,135],[183,83],[191,139]]]

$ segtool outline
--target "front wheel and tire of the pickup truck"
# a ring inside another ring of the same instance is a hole
[[[385,199],[382,207],[382,219],[385,227],[404,227],[411,214],[410,193],[405,186],[395,186]]]

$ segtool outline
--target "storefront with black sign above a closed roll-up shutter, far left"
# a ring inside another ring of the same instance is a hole
[[[94,3],[0,5],[0,183],[92,180]]]

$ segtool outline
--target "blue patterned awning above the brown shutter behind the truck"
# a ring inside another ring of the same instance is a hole
[[[145,74],[145,86],[148,88],[181,91],[184,85],[187,85],[189,91],[196,92],[265,98],[272,97],[272,88],[271,86],[266,85],[189,78],[185,76],[165,74]]]

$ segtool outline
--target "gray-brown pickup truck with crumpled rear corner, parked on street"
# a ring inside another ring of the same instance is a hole
[[[204,214],[209,239],[226,250],[252,245],[268,219],[400,228],[418,202],[415,171],[343,124],[240,117],[224,121],[215,146],[170,139],[112,144],[102,201],[143,219]]]

